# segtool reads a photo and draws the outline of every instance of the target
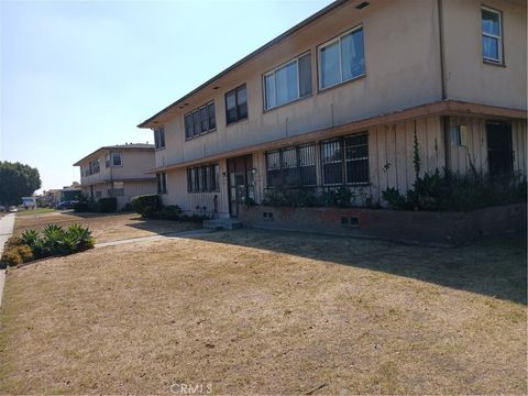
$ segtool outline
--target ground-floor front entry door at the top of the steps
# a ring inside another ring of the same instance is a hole
[[[240,206],[255,199],[253,156],[251,154],[228,160],[229,213],[239,217]]]

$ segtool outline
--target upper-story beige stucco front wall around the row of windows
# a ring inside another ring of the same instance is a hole
[[[317,20],[283,44],[256,56],[204,88],[164,116],[166,148],[156,165],[207,157],[254,143],[343,124],[441,98],[436,0],[372,1],[356,10],[350,3]],[[318,91],[317,46],[363,24],[366,76]],[[263,110],[262,75],[311,51],[314,95],[270,111]],[[246,84],[249,119],[226,127],[224,94]],[[215,99],[217,131],[185,141],[184,114]],[[162,122],[162,123],[163,123]]]

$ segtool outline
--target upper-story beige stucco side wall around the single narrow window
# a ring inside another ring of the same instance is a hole
[[[447,97],[526,109],[526,1],[443,0],[442,3]],[[503,13],[504,67],[482,59],[482,6]]]

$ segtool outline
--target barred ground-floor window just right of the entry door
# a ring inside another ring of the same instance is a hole
[[[267,152],[266,177],[268,187],[316,186],[316,144]]]

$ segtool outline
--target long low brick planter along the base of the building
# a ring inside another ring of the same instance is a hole
[[[455,245],[479,235],[524,231],[526,215],[526,202],[470,212],[254,206],[244,207],[239,219],[250,228]]]

